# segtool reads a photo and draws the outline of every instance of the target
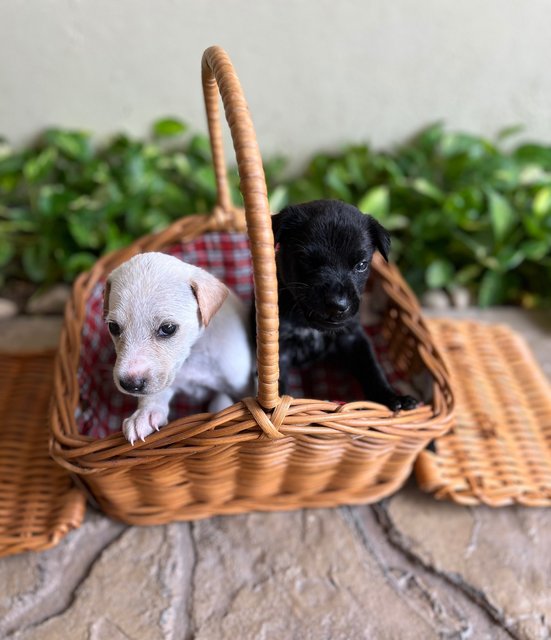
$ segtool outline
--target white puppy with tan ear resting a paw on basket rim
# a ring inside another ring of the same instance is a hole
[[[178,390],[220,411],[253,392],[247,313],[203,269],[164,253],[142,253],[107,279],[104,318],[115,343],[118,389],[139,398],[123,422],[134,442],[168,422]]]

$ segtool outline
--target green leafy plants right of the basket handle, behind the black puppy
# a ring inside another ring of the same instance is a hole
[[[516,132],[492,142],[436,124],[391,153],[319,154],[278,201],[339,198],[375,215],[417,293],[464,286],[481,306],[549,306],[551,146],[506,150]]]

